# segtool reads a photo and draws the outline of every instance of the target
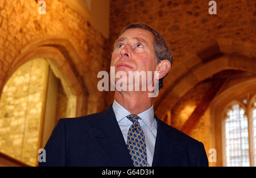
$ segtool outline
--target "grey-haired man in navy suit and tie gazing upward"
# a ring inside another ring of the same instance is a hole
[[[163,37],[152,28],[134,23],[115,41],[111,67],[115,73],[156,71],[148,85],[162,88],[172,55]],[[147,75],[150,75],[147,73]],[[141,76],[139,76],[142,79]],[[115,78],[126,81],[125,77]],[[115,90],[114,102],[100,113],[60,119],[40,166],[208,166],[203,143],[160,121],[154,114],[156,91]],[[171,98],[170,98],[171,100]]]

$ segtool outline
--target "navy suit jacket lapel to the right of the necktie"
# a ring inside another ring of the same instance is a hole
[[[156,115],[155,118],[158,129],[152,166],[177,166],[181,156],[181,152],[178,149],[179,145],[168,133],[170,128],[160,121]]]

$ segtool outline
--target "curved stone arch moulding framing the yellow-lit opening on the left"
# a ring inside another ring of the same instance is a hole
[[[20,50],[20,54],[11,64],[9,71],[6,74],[5,81],[0,86],[0,92],[6,81],[9,79],[16,69],[27,61],[36,58],[47,59],[56,77],[60,79],[63,86],[67,86],[68,92],[76,96],[76,116],[84,115],[87,113],[87,102],[89,96],[89,89],[91,78],[87,78],[85,81],[77,72],[77,64],[74,61],[81,61],[81,57],[76,52],[75,47],[67,39],[62,38],[46,38],[37,39],[30,44],[27,44]],[[73,60],[76,59],[76,60]]]

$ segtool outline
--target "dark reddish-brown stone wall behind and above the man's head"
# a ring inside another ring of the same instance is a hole
[[[217,38],[255,43],[254,1],[217,1],[217,15],[209,15],[209,1],[118,1],[110,3],[110,40],[126,24],[148,24],[167,40],[174,67]]]

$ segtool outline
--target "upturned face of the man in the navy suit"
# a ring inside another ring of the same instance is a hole
[[[131,28],[115,41],[111,67],[118,71],[155,71],[154,35],[141,28]]]

